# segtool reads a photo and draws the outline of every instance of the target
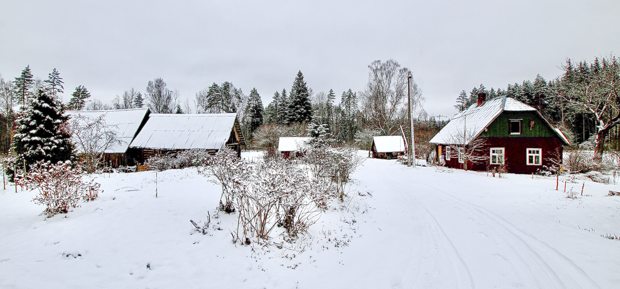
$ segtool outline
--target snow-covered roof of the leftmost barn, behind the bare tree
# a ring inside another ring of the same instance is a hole
[[[103,115],[106,125],[110,125],[117,132],[120,143],[114,144],[105,150],[105,153],[125,153],[133,140],[138,128],[149,109],[113,109],[113,110],[66,110],[66,115],[82,115],[87,118],[97,118]]]

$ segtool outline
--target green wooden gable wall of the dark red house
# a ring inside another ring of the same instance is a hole
[[[511,135],[508,131],[508,125],[512,119],[521,120],[521,134]],[[534,121],[534,128],[529,130],[529,122]],[[502,112],[487,127],[488,131],[482,131],[480,136],[508,136],[511,138],[527,138],[527,137],[557,137],[556,133],[549,128],[549,125],[538,116],[537,112]]]

